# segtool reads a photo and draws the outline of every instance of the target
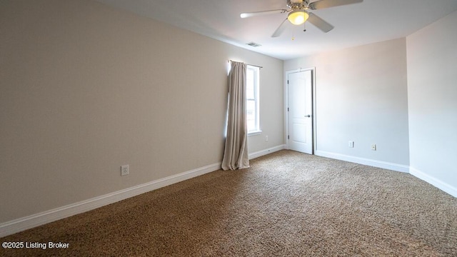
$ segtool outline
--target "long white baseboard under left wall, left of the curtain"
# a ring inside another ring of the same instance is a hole
[[[117,201],[121,201],[133,196],[138,196],[141,193],[153,191],[164,186],[169,186],[173,183],[185,181],[186,179],[194,178],[196,176],[201,176],[205,173],[217,171],[220,168],[221,163],[214,163],[208,166],[193,169],[191,171],[185,171],[174,176],[168,176],[166,178],[160,178],[156,181],[151,181],[138,186],[132,186],[131,188],[126,188],[121,191],[107,193],[104,196],[97,196],[85,201],[80,201],[79,203],[71,203],[67,206],[54,208],[42,213],[36,213],[24,218],[18,218],[14,221],[7,221],[0,224],[0,237],[8,236],[29,228],[34,228],[36,226],[41,226],[52,221],[67,218],[69,216],[74,216],[78,213],[91,211],[95,208],[106,206],[110,203],[115,203]]]

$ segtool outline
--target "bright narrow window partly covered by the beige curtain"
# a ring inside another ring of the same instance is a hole
[[[260,132],[258,122],[258,77],[260,68],[248,65],[246,69],[246,119],[248,133]]]

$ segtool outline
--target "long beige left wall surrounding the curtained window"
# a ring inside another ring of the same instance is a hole
[[[0,223],[219,163],[229,59],[264,67],[250,152],[283,144],[281,60],[94,1],[2,0],[0,34]]]

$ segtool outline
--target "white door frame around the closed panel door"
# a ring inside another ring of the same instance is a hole
[[[291,71],[286,71],[284,72],[284,83],[283,83],[283,99],[284,99],[284,141],[286,142],[286,149],[289,149],[289,146],[288,146],[288,111],[287,111],[287,108],[288,108],[288,83],[287,83],[287,80],[288,80],[288,75],[289,74],[293,74],[293,73],[296,73],[296,72],[301,72],[301,71],[311,71],[311,81],[313,83],[313,85],[311,86],[311,101],[313,101],[313,103],[311,104],[311,108],[313,109],[312,111],[312,131],[311,131],[311,135],[313,137],[313,154],[316,154],[316,151],[317,151],[317,136],[316,136],[316,120],[317,120],[317,116],[316,116],[316,67],[311,67],[311,68],[298,68],[298,69],[295,69],[295,70],[291,70]]]

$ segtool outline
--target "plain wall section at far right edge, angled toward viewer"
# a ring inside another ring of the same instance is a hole
[[[411,173],[457,197],[457,11],[411,34]]]

